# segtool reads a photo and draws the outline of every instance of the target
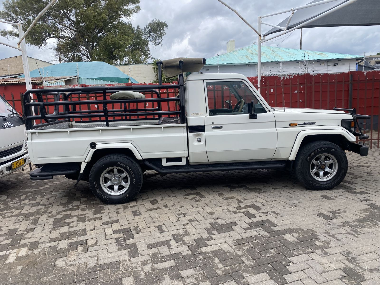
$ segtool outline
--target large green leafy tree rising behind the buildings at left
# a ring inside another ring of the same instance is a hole
[[[24,30],[50,0],[5,0],[0,18],[21,23]],[[55,56],[64,62],[104,61],[144,63],[150,44],[161,44],[168,25],[154,19],[133,27],[131,16],[140,11],[139,0],[59,0],[47,10],[26,37],[38,47],[54,40]],[[16,30],[1,35],[17,37]]]

